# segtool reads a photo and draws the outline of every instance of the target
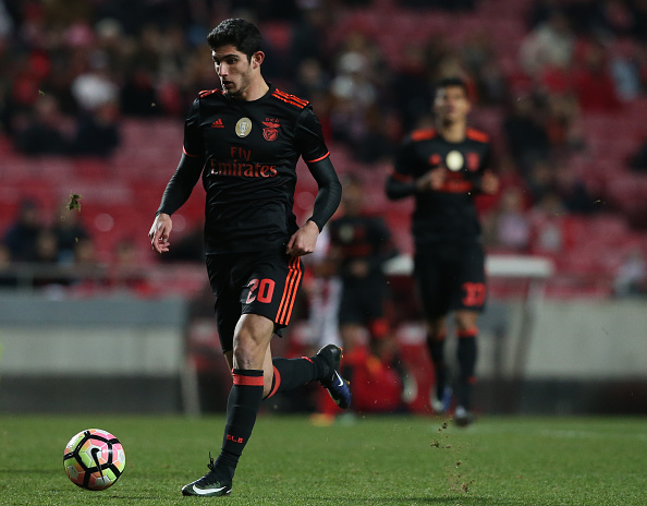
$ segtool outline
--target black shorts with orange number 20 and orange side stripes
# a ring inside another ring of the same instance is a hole
[[[207,272],[223,351],[233,349],[243,314],[271,320],[277,332],[290,323],[303,274],[300,257],[277,251],[213,254],[207,255]]]

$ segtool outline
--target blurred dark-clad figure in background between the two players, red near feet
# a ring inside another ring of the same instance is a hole
[[[328,258],[342,282],[338,320],[344,377],[353,384],[356,408],[394,411],[400,407],[402,381],[386,314],[389,286],[383,266],[398,251],[382,217],[367,210],[365,191],[356,178],[344,179],[341,209],[341,216],[328,224]],[[371,383],[379,383],[379,393],[370,390]]]

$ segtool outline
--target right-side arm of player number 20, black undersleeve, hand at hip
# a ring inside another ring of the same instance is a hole
[[[293,256],[307,255],[315,251],[319,232],[332,217],[341,202],[341,183],[330,161],[330,155],[314,161],[306,161],[310,173],[317,181],[317,197],[313,216],[301,227],[288,242],[286,252]]]

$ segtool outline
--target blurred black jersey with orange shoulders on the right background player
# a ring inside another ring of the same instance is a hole
[[[416,245],[474,243],[480,240],[480,224],[474,196],[490,165],[487,134],[467,129],[465,140],[445,141],[435,130],[413,132],[395,156],[392,179],[412,182],[431,169],[447,170],[439,191],[415,192],[412,229]],[[413,184],[412,184],[413,192]]]

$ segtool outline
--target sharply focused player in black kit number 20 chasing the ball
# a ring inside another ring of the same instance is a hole
[[[157,252],[169,251],[171,215],[202,176],[207,272],[233,386],[220,455],[182,493],[222,496],[231,492],[261,399],[318,381],[347,408],[351,391],[339,373],[338,347],[328,345],[314,357],[292,360],[272,359],[270,351],[272,335],[290,322],[301,256],[315,250],[340,203],[341,184],[320,124],[307,100],[264,80],[265,55],[254,24],[225,20],[207,41],[222,89],[202,92],[193,104],[184,153],[149,237]],[[318,184],[313,216],[301,227],[292,212],[300,157]]]

